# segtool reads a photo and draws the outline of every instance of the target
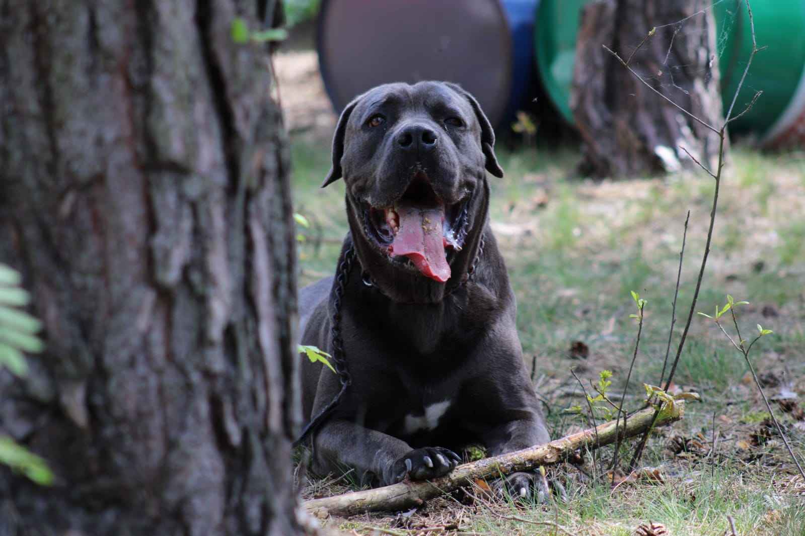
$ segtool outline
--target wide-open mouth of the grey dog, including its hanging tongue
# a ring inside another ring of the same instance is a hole
[[[367,235],[392,260],[413,264],[423,276],[444,283],[450,278],[452,255],[464,245],[468,204],[465,199],[445,205],[418,173],[393,207],[367,208]]]

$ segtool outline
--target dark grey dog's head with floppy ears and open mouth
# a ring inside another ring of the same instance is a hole
[[[469,267],[461,252],[477,247],[485,223],[485,172],[503,176],[494,142],[477,100],[456,84],[378,86],[341,113],[323,186],[344,178],[361,264],[390,296],[438,301]],[[411,284],[425,296],[400,288]]]

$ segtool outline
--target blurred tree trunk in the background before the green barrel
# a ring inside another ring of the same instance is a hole
[[[718,135],[646,88],[602,46],[617,52],[652,88],[720,128],[716,28],[712,10],[706,9],[710,4],[597,0],[584,7],[571,94],[584,141],[581,173],[631,177],[694,166],[681,147],[711,169],[716,166]]]

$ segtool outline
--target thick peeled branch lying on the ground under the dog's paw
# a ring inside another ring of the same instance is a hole
[[[666,403],[663,405],[663,409],[658,411],[654,426],[663,426],[682,419],[684,411],[683,399],[675,400],[673,404]],[[559,463],[577,450],[593,449],[611,444],[616,440],[617,428],[620,428],[617,435],[621,439],[637,436],[652,426],[654,414],[655,408],[648,407],[630,415],[628,425],[625,427],[622,424],[618,427],[615,421],[609,421],[596,428],[588,428],[583,432],[577,432],[538,447],[524,448],[493,458],[459,465],[452,473],[433,481],[404,481],[382,488],[313,499],[305,501],[304,505],[309,512],[319,518],[326,517],[327,514],[349,516],[364,512],[409,509],[412,506],[421,505],[423,501],[469,485],[475,479],[497,478],[518,471],[530,471],[540,465]]]

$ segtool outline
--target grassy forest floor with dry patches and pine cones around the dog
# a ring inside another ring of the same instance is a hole
[[[304,96],[283,86],[281,76],[287,113],[294,113],[288,108],[295,105],[293,100],[308,99],[308,107],[320,107],[320,117],[314,119],[287,117],[295,207],[311,223],[299,228],[304,235],[299,279],[308,284],[334,271],[347,225],[343,182],[319,188],[330,164],[334,117],[321,101],[317,73],[309,73],[315,72],[315,61],[308,67],[304,61],[295,63],[296,76],[309,75],[312,81]],[[283,68],[287,74],[287,65],[278,70]],[[316,103],[311,103],[311,94],[317,95]],[[637,335],[630,318],[635,313],[631,291],[648,301],[625,404],[640,407],[642,384],[657,384],[663,369],[687,211],[671,357],[690,309],[704,252],[712,178],[686,172],[592,182],[572,176],[577,160],[572,149],[502,148],[498,157],[506,177],[490,178],[492,227],[517,295],[519,335],[527,366],[536,363],[535,388],[545,399],[551,436],[587,424],[585,416],[564,411],[586,405],[572,367],[585,383],[596,382],[601,370],[611,370],[613,395],[620,396]],[[727,294],[750,302],[737,309],[745,338],[751,340],[758,324],[774,330],[758,341],[750,358],[791,444],[803,456],[805,153],[763,155],[739,147],[729,154],[696,310],[712,314],[716,305],[726,303]],[[726,322],[725,328],[732,334],[730,325]],[[555,469],[567,501],[519,503],[485,498],[476,490],[474,497],[443,497],[408,513],[327,523],[349,534],[457,530],[627,536],[641,524],[655,522],[675,536],[721,536],[730,534],[731,516],[736,534],[805,534],[805,483],[795,477],[782,440],[766,421],[766,408],[742,355],[708,318],[693,318],[674,383],[699,393],[701,402],[689,403],[682,422],[652,436],[642,465],[656,469],[653,478],[613,489],[604,471],[588,460],[584,471],[592,480],[576,468]],[[633,448],[634,442],[627,442],[624,455]],[[611,459],[612,450],[605,449],[603,460]],[[305,498],[354,489],[349,475],[308,476],[301,484]],[[535,522],[555,523],[565,532]]]

